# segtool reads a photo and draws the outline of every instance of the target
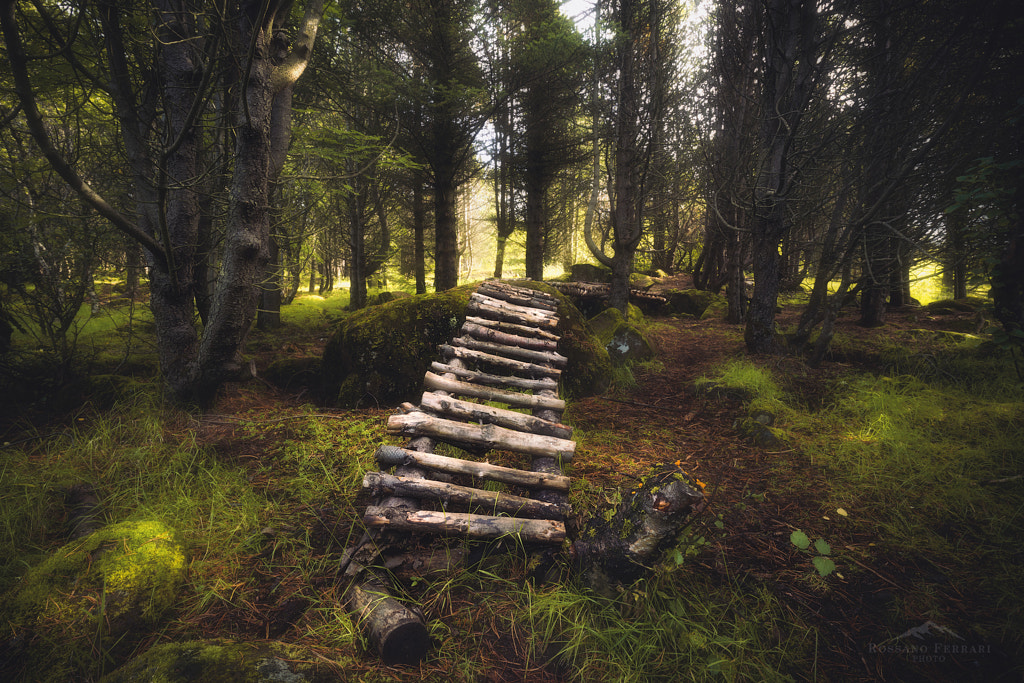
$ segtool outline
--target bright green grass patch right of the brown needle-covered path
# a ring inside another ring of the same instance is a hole
[[[992,609],[974,620],[976,636],[1019,648],[1024,592],[1024,391],[1005,355],[968,344],[884,353],[889,370],[835,380],[811,413],[748,360],[715,381],[752,390],[756,404],[783,403],[781,428],[824,469],[824,508],[843,508],[879,549],[937,567],[944,582],[921,581],[904,596],[894,629],[924,614],[942,623],[954,608],[945,582],[986,595]],[[853,567],[851,567],[853,568]],[[907,605],[913,605],[909,607]],[[898,631],[897,631],[898,634]],[[1012,645],[1011,645],[1012,644]]]

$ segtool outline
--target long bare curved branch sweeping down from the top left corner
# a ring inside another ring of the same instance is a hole
[[[17,22],[14,17],[14,0],[0,0],[0,25],[3,28],[3,39],[7,46],[7,56],[10,59],[11,73],[14,76],[14,89],[17,92],[22,110],[25,112],[25,119],[29,125],[29,131],[36,140],[46,161],[56,171],[65,182],[96,212],[111,221],[114,227],[118,228],[132,240],[145,247],[154,257],[165,260],[164,248],[152,236],[146,234],[132,223],[124,214],[112,207],[89,183],[78,174],[68,163],[60,153],[53,146],[46,125],[43,122],[39,108],[36,105],[35,94],[32,91],[32,82],[29,79],[27,68],[28,57],[25,52],[25,45],[22,37],[17,33]]]

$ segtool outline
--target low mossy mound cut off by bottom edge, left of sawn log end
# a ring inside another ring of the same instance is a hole
[[[311,683],[316,680],[314,667],[305,664],[311,658],[284,643],[165,643],[103,677],[101,683]]]

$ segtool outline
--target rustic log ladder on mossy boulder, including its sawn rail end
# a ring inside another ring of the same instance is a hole
[[[572,460],[575,441],[561,423],[558,379],[566,358],[556,350],[557,308],[550,295],[497,281],[471,295],[461,336],[439,347],[420,404],[404,403],[388,419],[388,432],[409,441],[380,446],[381,471],[362,480],[372,497],[364,514],[369,533],[565,539],[569,478],[561,466]],[[466,457],[434,454],[438,443]],[[488,451],[528,459],[529,469],[481,462]],[[452,482],[460,475],[471,485]],[[486,482],[501,485],[481,487]],[[510,490],[489,489],[503,487]],[[422,620],[389,598],[379,578],[362,581],[349,591],[349,609],[378,653],[386,661],[422,658],[429,646]]]

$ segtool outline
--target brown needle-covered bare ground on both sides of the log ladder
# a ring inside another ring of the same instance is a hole
[[[792,324],[798,312],[784,309],[779,324]],[[973,332],[976,326],[973,312],[930,314],[921,307],[892,310],[886,326],[876,330],[858,327],[855,318],[854,311],[840,318],[837,340],[842,341],[819,369],[793,356],[752,359],[813,414],[833,405],[844,378],[888,372],[885,349],[927,345],[922,330]],[[651,317],[647,334],[656,346],[655,362],[636,367],[632,384],[572,401],[566,412],[565,422],[578,434],[569,473],[585,482],[588,505],[602,499],[614,503],[616,492],[627,490],[659,463],[679,462],[705,482],[710,505],[688,532],[692,552],[686,553],[673,581],[685,584],[691,579],[694,585],[735,592],[739,599],[729,608],[729,618],[739,622],[744,591],[752,603],[768,594],[780,606],[779,623],[786,625],[784,634],[761,634],[769,642],[774,638],[781,643],[794,631],[813,633],[809,654],[778,664],[778,680],[1020,680],[1024,657],[1014,644],[1019,639],[978,635],[1005,628],[1006,613],[1019,615],[1019,607],[995,604],[993,600],[1001,598],[987,594],[984,577],[968,577],[924,550],[906,552],[905,547],[888,544],[879,511],[837,500],[821,458],[799,444],[752,444],[734,427],[744,415],[742,401],[694,391],[694,382],[713,376],[724,361],[750,358],[740,328],[718,319]],[[257,373],[283,356],[318,355],[324,335],[323,329],[300,327],[257,335],[251,345]],[[243,553],[240,563],[225,565],[223,574],[215,578],[221,594],[229,589],[230,599],[218,596],[202,609],[182,614],[162,638],[177,633],[278,639],[322,652],[324,661],[337,660],[330,643],[323,642],[324,624],[331,618],[324,605],[337,604],[337,559],[359,533],[361,501],[354,495],[308,500],[294,490],[294,477],[285,476],[293,473],[282,454],[303,438],[298,420],[290,418],[308,416],[310,410],[325,418],[329,428],[357,434],[367,452],[360,457],[369,458],[377,443],[388,438],[383,429],[388,410],[310,409],[301,391],[285,392],[263,381],[229,386],[213,410],[172,428],[193,430],[200,446],[212,450],[220,462],[246,470],[251,485],[280,507],[266,521],[266,544]],[[585,515],[595,514],[593,507],[577,512],[570,533]],[[301,536],[297,528],[305,529],[304,541],[286,543],[285,537],[294,541]],[[827,540],[837,571],[825,578],[814,571],[809,556],[791,542],[797,529]],[[297,558],[302,553],[307,557]],[[509,579],[525,581],[522,575]],[[501,585],[488,586],[492,583],[452,581],[443,599],[428,595],[435,584],[424,582],[417,588],[414,582],[410,588],[411,595],[424,601],[428,618],[445,622],[456,647],[472,650],[462,652],[475,661],[471,673],[453,671],[443,660],[444,652],[438,655],[441,660],[428,659],[420,668],[394,669],[361,655],[355,660],[365,667],[366,680],[575,680],[570,668],[538,658],[528,629],[520,631],[496,617],[501,610],[494,608],[492,598],[481,597],[481,591],[501,593]],[[484,609],[485,603],[492,607]],[[993,617],[993,612],[998,615]],[[355,680],[349,678],[355,665],[348,661],[345,680]],[[680,672],[678,680],[690,678],[700,677]]]

